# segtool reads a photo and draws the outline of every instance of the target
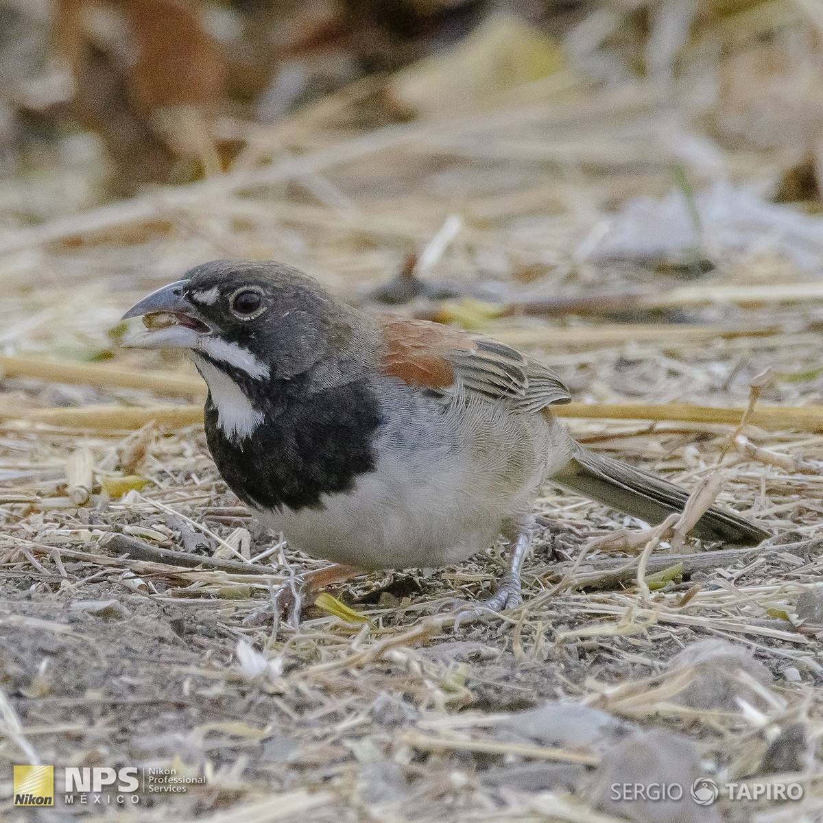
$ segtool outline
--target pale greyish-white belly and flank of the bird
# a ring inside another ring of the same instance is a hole
[[[353,491],[325,495],[323,509],[258,516],[300,551],[360,569],[466,560],[495,542],[506,518],[527,517],[546,472],[568,459],[565,430],[480,402],[477,426],[456,425],[454,410],[440,416],[437,436],[388,425],[374,472]]]

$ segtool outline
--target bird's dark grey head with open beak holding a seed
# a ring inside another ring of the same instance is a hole
[[[126,345],[188,349],[234,379],[289,379],[323,358],[340,313],[312,277],[272,262],[215,260],[123,315],[146,331]]]

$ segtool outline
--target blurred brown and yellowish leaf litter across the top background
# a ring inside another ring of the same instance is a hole
[[[821,26],[816,0],[0,0],[0,173],[51,173],[0,212],[19,225],[248,163],[260,125],[329,95],[346,105],[323,128],[375,128],[569,72],[700,75],[700,128],[782,153],[774,198],[816,203]]]

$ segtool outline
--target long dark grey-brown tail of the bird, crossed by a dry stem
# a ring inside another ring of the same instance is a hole
[[[687,491],[673,483],[579,445],[574,457],[552,479],[647,523],[662,523],[672,512],[682,511],[689,497]],[[770,532],[739,514],[714,506],[697,521],[691,533],[701,540],[737,546],[755,546],[770,537]]]

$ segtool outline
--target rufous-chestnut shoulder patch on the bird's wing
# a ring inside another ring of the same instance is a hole
[[[447,388],[454,383],[449,356],[477,350],[467,334],[425,320],[384,317],[385,374],[420,388]]]

